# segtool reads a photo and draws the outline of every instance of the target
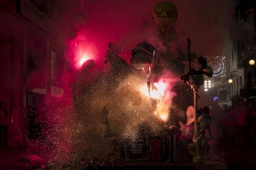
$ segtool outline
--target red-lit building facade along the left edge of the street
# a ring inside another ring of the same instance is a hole
[[[41,103],[63,93],[64,41],[56,12],[54,0],[0,1],[0,100],[9,112],[9,145],[37,139]]]

